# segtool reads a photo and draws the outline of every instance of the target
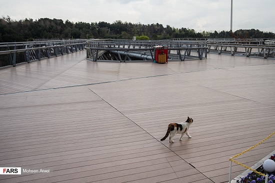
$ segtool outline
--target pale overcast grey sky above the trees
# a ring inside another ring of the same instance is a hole
[[[197,32],[230,30],[231,0],[0,0],[0,16],[12,20],[56,18],[63,21],[151,24]],[[275,0],[233,0],[233,31],[275,33]]]

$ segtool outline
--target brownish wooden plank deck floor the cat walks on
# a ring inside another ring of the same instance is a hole
[[[275,60],[107,63],[85,51],[0,69],[0,182],[228,182],[228,158],[275,131]],[[160,138],[192,117],[192,138]],[[237,158],[253,165],[275,136]],[[244,168],[233,164],[232,177]]]

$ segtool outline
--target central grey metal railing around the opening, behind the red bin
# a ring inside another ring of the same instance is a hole
[[[202,59],[207,57],[205,41],[180,40],[87,40],[87,59],[92,61],[153,61],[154,46],[168,49],[168,60]]]

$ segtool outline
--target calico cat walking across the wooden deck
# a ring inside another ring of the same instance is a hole
[[[160,139],[160,141],[165,140],[168,135],[169,135],[169,143],[173,143],[174,140],[172,139],[173,136],[177,133],[181,133],[179,140],[182,140],[182,136],[184,133],[191,138],[191,136],[188,133],[188,129],[190,127],[190,124],[193,122],[192,118],[187,117],[187,120],[185,122],[180,122],[180,123],[170,123],[168,125],[167,132],[163,138]]]

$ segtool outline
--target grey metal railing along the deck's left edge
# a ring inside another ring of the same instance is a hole
[[[0,67],[84,50],[84,39],[0,43]]]

